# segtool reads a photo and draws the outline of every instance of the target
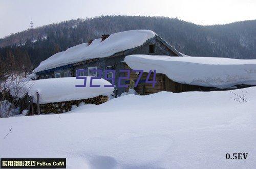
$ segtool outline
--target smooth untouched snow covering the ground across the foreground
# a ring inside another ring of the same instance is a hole
[[[0,157],[67,158],[75,169],[253,168],[256,87],[246,91],[242,103],[229,91],[160,92],[66,114],[0,119]],[[226,153],[248,156],[227,160]]]

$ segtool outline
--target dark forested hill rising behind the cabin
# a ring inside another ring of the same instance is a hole
[[[203,26],[177,18],[147,16],[100,16],[26,30],[0,39],[0,57],[25,53],[37,66],[56,52],[102,34],[134,29],[152,30],[180,52],[195,57],[256,59],[256,20]]]

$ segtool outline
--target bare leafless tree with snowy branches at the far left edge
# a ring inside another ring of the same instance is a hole
[[[22,78],[24,69],[15,62],[10,51],[5,60],[0,57],[0,118],[11,117],[18,110],[18,98],[23,97],[32,87],[33,82]]]

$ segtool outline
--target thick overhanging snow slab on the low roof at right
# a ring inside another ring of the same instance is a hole
[[[217,88],[256,85],[256,60],[135,54],[124,61],[132,69],[145,72],[155,69],[169,79],[189,85]]]

